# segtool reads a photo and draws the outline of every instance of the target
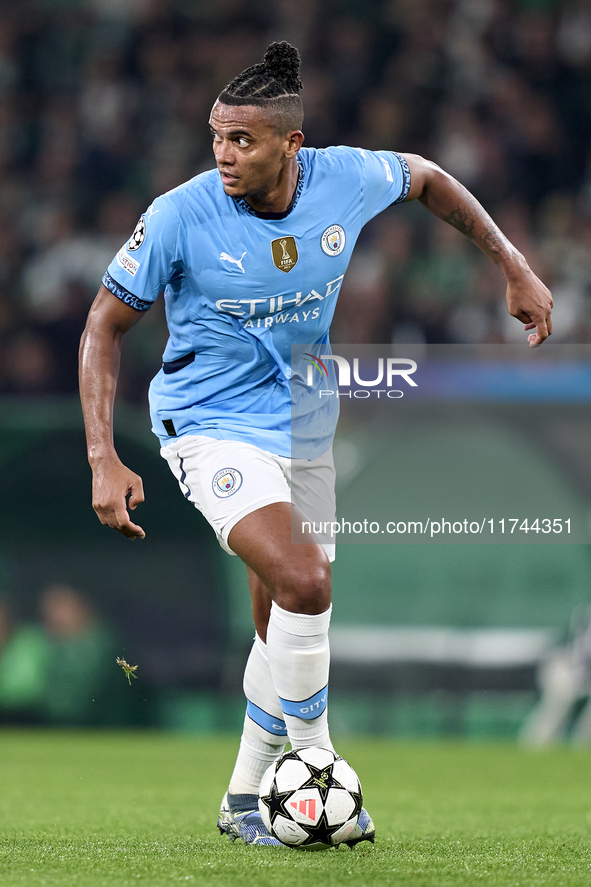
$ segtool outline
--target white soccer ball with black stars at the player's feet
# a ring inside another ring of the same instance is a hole
[[[259,811],[289,847],[322,850],[346,841],[357,824],[361,785],[353,768],[326,748],[281,755],[261,780]]]

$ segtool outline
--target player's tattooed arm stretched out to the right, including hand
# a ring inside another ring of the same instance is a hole
[[[527,261],[493,222],[476,198],[436,163],[417,154],[404,154],[410,169],[406,200],[419,200],[472,240],[497,265],[507,280],[509,314],[525,324],[531,347],[541,345],[552,332],[552,295]]]

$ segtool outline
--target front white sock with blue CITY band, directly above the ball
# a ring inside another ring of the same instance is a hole
[[[267,655],[292,748],[333,748],[326,711],[331,611],[307,616],[271,605]]]

